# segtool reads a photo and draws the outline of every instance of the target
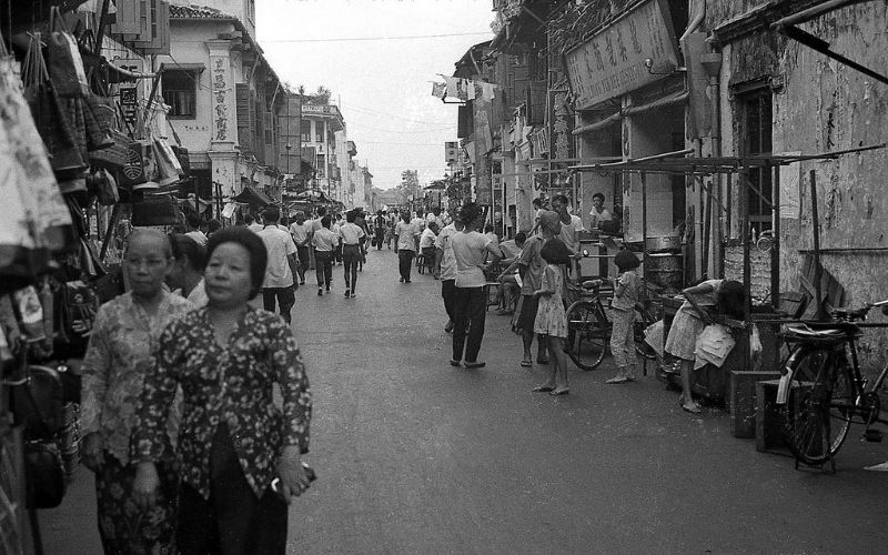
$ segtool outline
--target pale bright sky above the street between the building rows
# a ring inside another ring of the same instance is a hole
[[[493,38],[492,3],[258,0],[256,36],[281,80],[333,91],[374,186],[396,186],[407,169],[425,184],[444,175],[444,142],[457,140],[456,104],[432,97],[432,81]]]

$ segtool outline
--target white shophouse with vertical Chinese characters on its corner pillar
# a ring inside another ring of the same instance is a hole
[[[254,2],[221,4],[170,7],[159,94],[189,149],[198,196],[246,190],[280,201],[289,157],[300,152],[299,102],[255,42]]]

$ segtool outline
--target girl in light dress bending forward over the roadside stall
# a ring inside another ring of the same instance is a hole
[[[682,360],[682,396],[678,403],[684,411],[697,414],[700,407],[690,395],[697,336],[714,322],[713,312],[743,319],[747,296],[743,283],[728,280],[708,280],[687,287],[682,294],[686,301],[675,314],[664,349]]]

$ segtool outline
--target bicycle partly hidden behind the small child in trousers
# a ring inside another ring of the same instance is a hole
[[[586,280],[574,290],[579,299],[567,307],[567,355],[581,370],[595,370],[604,360],[610,344],[614,324],[602,302],[603,280]],[[654,323],[650,312],[640,303],[635,305],[635,352],[656,360],[657,354],[645,343],[645,329]]]

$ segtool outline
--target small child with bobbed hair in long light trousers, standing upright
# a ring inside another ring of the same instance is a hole
[[[605,383],[634,382],[635,374],[635,303],[642,292],[642,279],[636,269],[640,264],[632,251],[619,251],[614,256],[619,278],[614,281],[614,301],[610,304],[614,330],[610,333],[610,353],[617,365],[617,375]]]

